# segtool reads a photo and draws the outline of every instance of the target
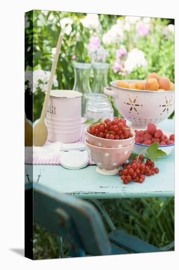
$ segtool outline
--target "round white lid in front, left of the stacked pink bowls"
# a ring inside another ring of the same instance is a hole
[[[63,152],[60,162],[66,169],[78,170],[84,168],[89,163],[88,152],[86,150]]]

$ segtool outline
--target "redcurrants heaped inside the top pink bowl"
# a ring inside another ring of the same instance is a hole
[[[111,140],[128,139],[134,136],[131,128],[126,125],[126,120],[118,117],[114,117],[112,121],[107,118],[103,123],[90,126],[88,133]]]

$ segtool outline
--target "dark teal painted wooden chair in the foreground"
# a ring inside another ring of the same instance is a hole
[[[34,222],[66,241],[71,257],[158,252],[161,249],[123,230],[109,236],[95,207],[82,199],[33,184]]]

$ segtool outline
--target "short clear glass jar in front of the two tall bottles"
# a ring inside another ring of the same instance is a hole
[[[86,119],[90,119],[93,122],[102,118],[104,121],[106,118],[113,119],[114,110],[111,102],[104,94],[92,93],[86,95],[87,108],[86,108]]]

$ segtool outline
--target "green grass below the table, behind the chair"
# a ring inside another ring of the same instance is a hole
[[[101,200],[116,227],[162,248],[174,241],[174,198]],[[104,220],[105,223],[105,220]],[[107,231],[110,232],[105,223]],[[34,225],[34,259],[58,258],[56,236]],[[64,243],[65,255],[67,255]],[[171,246],[170,250],[174,250]]]

